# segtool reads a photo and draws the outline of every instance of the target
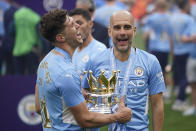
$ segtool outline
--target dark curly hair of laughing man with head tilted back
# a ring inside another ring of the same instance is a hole
[[[55,9],[45,14],[40,21],[40,33],[50,42],[56,41],[56,35],[65,28],[67,10]]]

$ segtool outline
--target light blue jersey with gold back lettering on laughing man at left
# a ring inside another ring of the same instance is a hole
[[[69,110],[84,102],[84,97],[80,77],[66,51],[56,47],[41,61],[37,85],[43,130],[82,130]]]

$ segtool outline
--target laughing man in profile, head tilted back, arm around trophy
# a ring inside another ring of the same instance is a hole
[[[35,107],[41,114],[44,131],[80,131],[116,121],[125,123],[131,118],[131,110],[123,102],[115,114],[88,111],[80,77],[71,60],[74,50],[83,42],[78,28],[66,10],[50,11],[40,22],[41,34],[55,46],[37,71]]]

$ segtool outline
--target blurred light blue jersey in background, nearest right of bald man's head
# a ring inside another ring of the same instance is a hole
[[[170,51],[169,36],[172,34],[172,28],[169,19],[167,13],[153,13],[147,16],[144,30],[150,33],[149,51]]]

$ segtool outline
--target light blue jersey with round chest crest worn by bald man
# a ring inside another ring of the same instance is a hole
[[[127,107],[133,112],[131,121],[126,124],[126,129],[127,131],[148,131],[149,95],[165,91],[160,64],[155,56],[137,48],[132,48],[129,60],[125,62],[116,60],[112,52],[112,49],[107,49],[95,59],[90,60],[88,70],[92,70],[94,76],[98,77],[100,71],[104,69],[108,78],[111,76],[112,69],[120,70],[116,91],[118,94],[123,94],[125,91]],[[88,87],[86,79],[84,86]]]

